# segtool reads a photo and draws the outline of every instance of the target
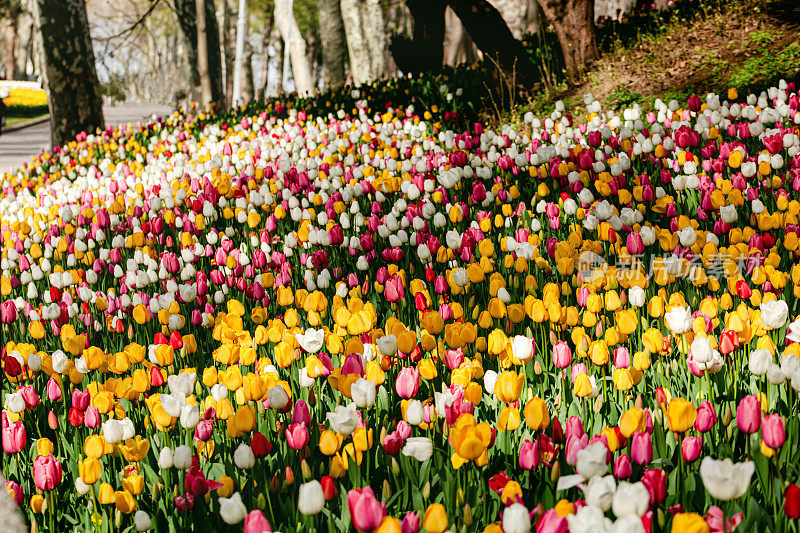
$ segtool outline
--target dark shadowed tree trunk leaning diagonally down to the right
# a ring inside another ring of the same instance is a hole
[[[582,0],[587,1],[587,0]],[[588,0],[592,1],[592,0]],[[489,56],[507,83],[531,89],[539,83],[536,66],[488,0],[447,0],[484,57]]]

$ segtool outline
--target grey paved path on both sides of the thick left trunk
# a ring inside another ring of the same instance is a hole
[[[153,114],[164,115],[171,109],[149,104],[123,104],[104,107],[103,116],[107,124],[135,123],[149,119]],[[0,135],[0,175],[24,165],[42,150],[50,149],[50,123],[37,124],[19,131]]]

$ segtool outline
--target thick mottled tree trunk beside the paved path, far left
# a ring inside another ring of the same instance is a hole
[[[44,52],[44,87],[50,107],[50,141],[61,146],[102,128],[103,99],[94,66],[84,0],[37,0]]]

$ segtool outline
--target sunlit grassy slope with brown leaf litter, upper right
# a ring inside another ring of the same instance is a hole
[[[760,92],[781,78],[800,80],[797,0],[728,0],[631,26],[620,28],[627,36],[605,38],[606,51],[583,83],[551,86],[501,119],[549,113],[557,100],[582,109],[589,92],[607,108],[634,102],[648,108],[656,98],[685,103],[691,94]]]

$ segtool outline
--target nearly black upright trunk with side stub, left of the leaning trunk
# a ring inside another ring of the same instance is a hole
[[[411,39],[396,35],[390,49],[403,72],[438,72],[444,61],[444,0],[406,0],[414,19]]]

